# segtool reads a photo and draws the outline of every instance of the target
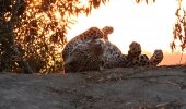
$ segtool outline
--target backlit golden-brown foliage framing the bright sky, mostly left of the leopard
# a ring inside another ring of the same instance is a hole
[[[83,1],[83,3],[82,3]],[[62,70],[61,50],[66,34],[79,14],[109,0],[0,0],[0,70],[22,73],[54,73]],[[136,0],[140,3],[144,0]],[[154,0],[149,0],[153,1]],[[146,0],[147,4],[149,3]],[[119,1],[118,1],[119,2]],[[186,19],[177,9],[175,39],[186,48]],[[175,48],[174,41],[171,46]]]

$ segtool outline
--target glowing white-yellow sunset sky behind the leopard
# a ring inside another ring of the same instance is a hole
[[[135,0],[109,0],[106,5],[102,4],[97,10],[93,10],[90,16],[80,15],[77,24],[71,25],[68,31],[67,37],[70,40],[91,26],[102,28],[108,25],[114,27],[109,40],[123,53],[127,53],[131,41],[138,41],[143,52],[149,52],[149,57],[154,49],[162,49],[165,53],[162,64],[177,64],[181,55],[177,51],[172,55],[170,48],[176,8],[176,0],[156,0],[149,5],[146,2],[137,4]]]

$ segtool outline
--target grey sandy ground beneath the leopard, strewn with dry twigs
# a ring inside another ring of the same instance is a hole
[[[186,109],[186,66],[0,74],[0,109]]]

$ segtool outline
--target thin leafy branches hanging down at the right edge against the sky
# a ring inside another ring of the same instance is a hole
[[[175,12],[177,19],[173,29],[174,40],[171,44],[171,48],[172,50],[176,49],[175,41],[179,40],[181,48],[184,51],[186,49],[186,9],[184,9],[182,0],[177,0],[177,2],[178,8]]]

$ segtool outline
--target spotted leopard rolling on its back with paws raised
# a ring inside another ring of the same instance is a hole
[[[118,47],[112,44],[108,35],[114,27],[90,27],[88,31],[72,38],[62,51],[65,72],[82,72],[123,66],[158,65],[163,59],[163,52],[155,50],[149,59],[141,55],[141,45],[132,41],[128,55],[123,55]]]

